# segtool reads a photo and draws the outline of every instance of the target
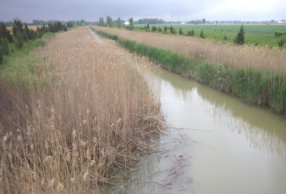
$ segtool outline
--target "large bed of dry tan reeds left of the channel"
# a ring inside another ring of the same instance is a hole
[[[148,86],[134,55],[86,27],[35,56],[36,84],[2,87],[1,192],[104,192],[99,183],[128,173],[164,128],[160,83]]]

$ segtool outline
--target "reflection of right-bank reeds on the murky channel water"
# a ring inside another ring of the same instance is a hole
[[[159,74],[158,74],[159,75]],[[192,80],[163,70],[160,77],[166,88],[172,87],[174,97],[184,104],[200,103],[202,111],[215,124],[227,126],[240,134],[256,149],[266,149],[277,153],[282,163],[286,163],[286,122],[283,116],[268,108],[249,106],[223,92],[217,92]]]

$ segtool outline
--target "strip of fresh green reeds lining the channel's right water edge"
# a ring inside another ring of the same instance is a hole
[[[96,27],[97,31],[102,29],[107,28]],[[130,39],[117,39],[130,52],[147,56],[172,72],[237,96],[249,104],[268,105],[275,112],[286,113],[285,71],[277,71],[273,67],[262,69],[255,65],[213,63]]]

